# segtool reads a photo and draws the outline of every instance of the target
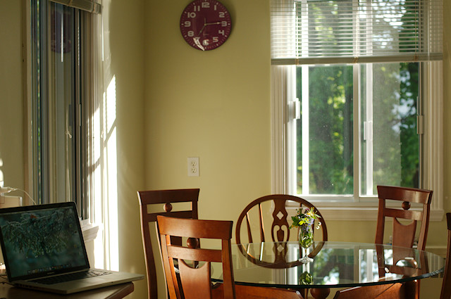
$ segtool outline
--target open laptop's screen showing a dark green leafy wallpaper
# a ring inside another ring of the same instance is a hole
[[[89,268],[75,203],[0,209],[9,281]]]

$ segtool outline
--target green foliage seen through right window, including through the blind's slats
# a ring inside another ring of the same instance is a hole
[[[385,7],[388,0],[374,1],[374,7]],[[327,39],[333,51],[352,50],[352,42],[342,42],[348,37],[352,41],[352,21],[350,30],[336,26],[340,14],[349,10],[352,15],[352,1],[310,1],[309,35],[312,40]],[[301,11],[299,8],[298,11]],[[371,46],[379,51],[390,47],[386,42],[387,32],[395,30],[404,34],[403,24],[391,23],[385,18],[384,10],[373,11],[378,22],[383,26],[373,32]],[[417,11],[406,6],[402,20],[409,23],[418,18]],[[299,19],[302,16],[299,15]],[[385,32],[384,30],[387,30]],[[321,32],[321,34],[319,33]],[[407,31],[409,32],[409,28]],[[302,35],[302,32],[299,32]],[[346,35],[347,34],[347,35]],[[378,37],[382,41],[378,42]],[[412,37],[414,38],[414,37]],[[397,40],[392,41],[396,45]],[[341,43],[341,44],[340,44]],[[362,45],[364,46],[364,45]],[[351,47],[351,48],[350,48]],[[310,56],[321,56],[322,49],[307,48]],[[400,52],[404,51],[400,44]],[[407,50],[406,50],[407,51]],[[419,95],[419,63],[373,63],[359,65],[359,106],[354,111],[353,65],[314,65],[309,66],[309,194],[354,194],[354,144],[360,142],[359,161],[362,181],[362,194],[367,194],[366,180],[372,184],[373,193],[378,184],[397,186],[419,186],[419,136],[416,134],[416,106]],[[368,78],[367,78],[368,77]],[[371,82],[366,82],[371,79]],[[367,84],[371,83],[371,84]],[[360,113],[360,131],[364,131],[366,121],[366,87],[372,86],[373,110],[373,146],[371,155],[373,163],[367,165],[367,141],[363,136],[354,137],[354,122]],[[302,98],[302,71],[297,68],[297,97]],[[302,111],[301,111],[302,117]],[[302,191],[302,120],[297,121],[297,193]],[[366,177],[366,168],[371,170],[371,178]]]

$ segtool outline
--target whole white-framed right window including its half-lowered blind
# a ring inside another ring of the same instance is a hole
[[[271,0],[274,192],[340,219],[374,208],[380,184],[432,189],[441,217],[441,14],[441,0]]]

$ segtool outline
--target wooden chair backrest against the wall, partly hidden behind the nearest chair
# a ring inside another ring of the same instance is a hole
[[[156,271],[154,250],[152,249],[150,233],[151,228],[149,227],[149,224],[156,225],[157,215],[197,219],[199,189],[138,191],[137,196],[140,200],[142,243],[144,245],[144,256],[147,267],[147,288],[149,290],[149,299],[157,299],[158,288],[156,273],[158,272]],[[173,203],[187,203],[190,205],[190,208],[187,210],[175,211],[173,210]],[[157,235],[159,236],[159,234]],[[160,256],[158,248],[155,251],[157,256]]]

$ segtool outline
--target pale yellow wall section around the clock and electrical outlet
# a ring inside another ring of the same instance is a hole
[[[223,1],[228,41],[185,43],[178,21],[190,1],[148,1],[145,24],[145,186],[199,187],[199,217],[235,219],[271,191],[268,1]],[[187,157],[200,176],[187,176]]]

